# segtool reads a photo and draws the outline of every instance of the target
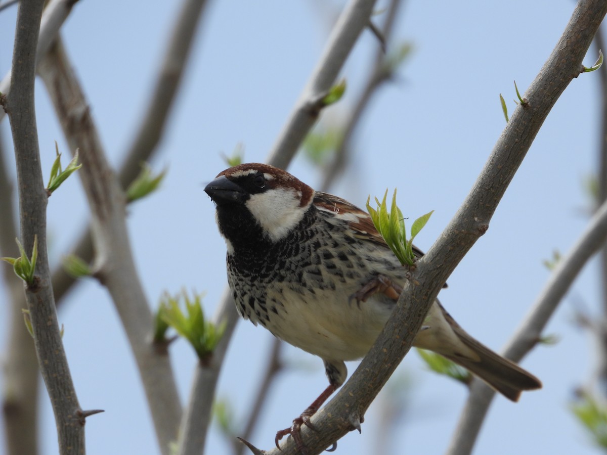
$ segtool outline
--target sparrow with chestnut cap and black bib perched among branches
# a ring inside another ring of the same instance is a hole
[[[313,190],[285,170],[247,163],[220,172],[205,192],[227,246],[228,283],[239,314],[319,356],[329,386],[275,443],[341,386],[345,361],[367,354],[396,306],[409,269],[367,212]],[[422,256],[415,249],[418,257]],[[436,300],[413,345],[468,369],[507,399],[541,388],[537,377],[467,334]]]

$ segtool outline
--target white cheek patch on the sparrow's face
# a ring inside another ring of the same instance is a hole
[[[301,198],[295,189],[277,187],[251,195],[245,205],[270,240],[278,241],[304,218],[309,204],[300,207]]]

